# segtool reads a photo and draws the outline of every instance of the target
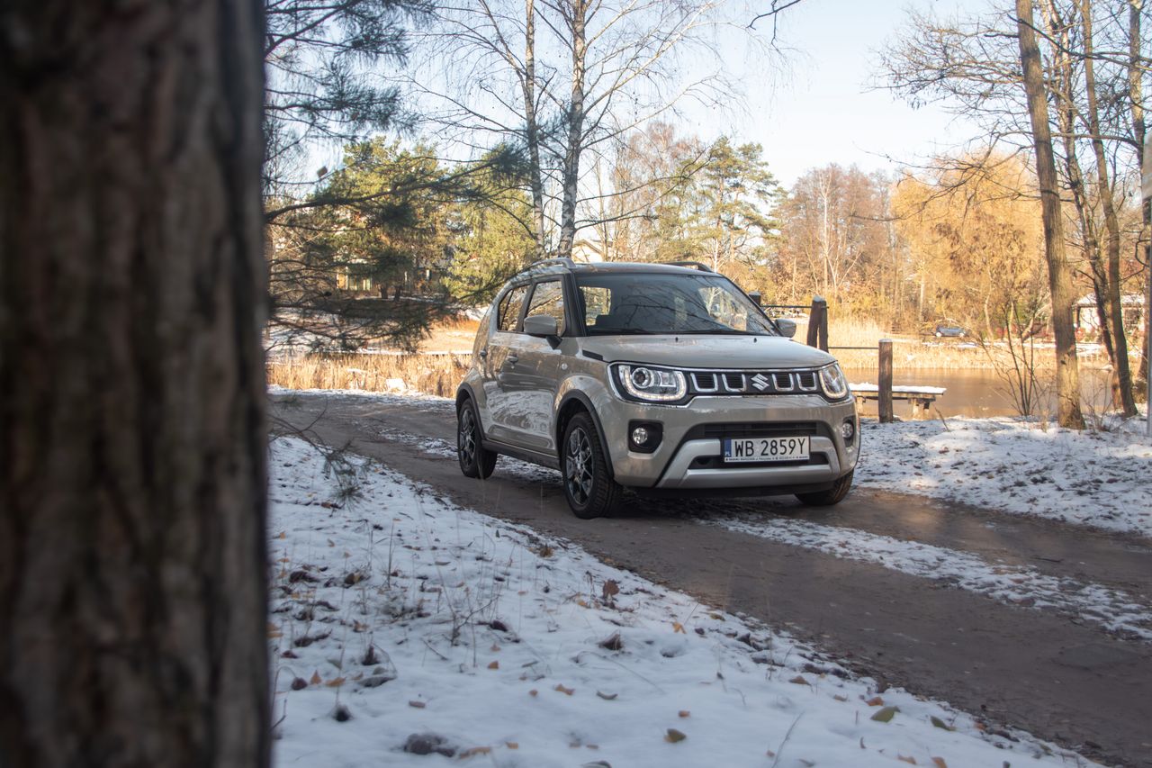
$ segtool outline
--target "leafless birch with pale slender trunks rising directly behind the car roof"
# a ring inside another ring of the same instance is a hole
[[[440,12],[417,76],[432,119],[477,152],[515,142],[530,158],[540,251],[567,256],[605,205],[588,190],[589,155],[609,160],[632,129],[696,99],[723,108],[736,89],[720,68],[685,75],[689,57],[717,59],[730,28],[721,0],[480,0]],[[694,62],[696,63],[696,62]],[[698,69],[698,63],[696,67]],[[591,203],[591,204],[586,204]]]

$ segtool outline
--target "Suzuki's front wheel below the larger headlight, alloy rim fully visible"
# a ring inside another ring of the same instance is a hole
[[[560,444],[560,474],[564,498],[583,520],[612,514],[623,489],[608,474],[599,434],[588,413],[578,413],[564,427]]]

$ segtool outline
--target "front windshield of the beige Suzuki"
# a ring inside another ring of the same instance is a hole
[[[713,273],[576,276],[590,336],[707,333],[779,336],[728,278]]]

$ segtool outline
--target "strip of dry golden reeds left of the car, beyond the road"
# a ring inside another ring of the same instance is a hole
[[[364,390],[453,397],[470,355],[314,354],[268,361],[268,384],[290,390]]]

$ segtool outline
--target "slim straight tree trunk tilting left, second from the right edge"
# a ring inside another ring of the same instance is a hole
[[[1132,399],[1132,372],[1128,363],[1128,337],[1124,334],[1124,313],[1121,302],[1123,293],[1120,278],[1120,219],[1116,216],[1115,196],[1108,178],[1108,159],[1100,135],[1100,110],[1096,97],[1096,63],[1092,58],[1092,7],[1081,0],[1081,24],[1084,30],[1084,90],[1087,95],[1087,123],[1092,134],[1092,152],[1096,156],[1097,183],[1100,187],[1100,204],[1104,208],[1104,228],[1107,233],[1108,283],[1105,301],[1108,319],[1112,321],[1112,344],[1115,354],[1112,360],[1113,405],[1126,415],[1136,415]]]

